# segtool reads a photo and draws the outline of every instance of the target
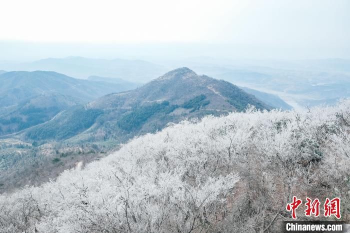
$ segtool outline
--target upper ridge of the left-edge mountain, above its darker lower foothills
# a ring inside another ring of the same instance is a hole
[[[57,92],[86,102],[121,90],[125,88],[105,82],[77,79],[53,71],[9,71],[0,74],[0,107],[42,93]]]

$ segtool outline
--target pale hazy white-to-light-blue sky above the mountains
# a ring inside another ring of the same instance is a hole
[[[0,8],[0,59],[350,58],[350,0],[8,0]]]

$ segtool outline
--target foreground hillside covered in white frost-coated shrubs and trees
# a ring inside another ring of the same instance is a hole
[[[170,125],[56,181],[0,195],[0,230],[280,232],[293,195],[335,195],[349,221],[349,113],[347,100]],[[303,211],[299,220],[314,219]]]

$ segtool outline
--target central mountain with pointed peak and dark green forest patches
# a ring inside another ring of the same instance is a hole
[[[21,138],[66,139],[76,135],[72,140],[81,141],[94,137],[99,131],[103,140],[125,141],[135,135],[159,130],[168,122],[178,122],[184,117],[242,111],[248,104],[258,109],[270,108],[229,82],[197,75],[183,67],[136,89],[102,96],[78,112],[74,113],[74,109],[66,111],[48,123],[25,131]],[[76,119],[80,119],[81,127],[70,123]]]

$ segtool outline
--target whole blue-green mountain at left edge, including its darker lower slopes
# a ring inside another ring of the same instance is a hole
[[[45,122],[70,106],[127,85],[88,81],[51,71],[10,71],[0,74],[0,135]]]

